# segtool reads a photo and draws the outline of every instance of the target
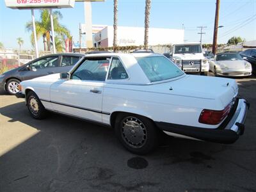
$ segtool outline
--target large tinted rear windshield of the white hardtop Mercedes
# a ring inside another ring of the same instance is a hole
[[[172,79],[184,74],[164,56],[136,57],[136,60],[151,82]]]

